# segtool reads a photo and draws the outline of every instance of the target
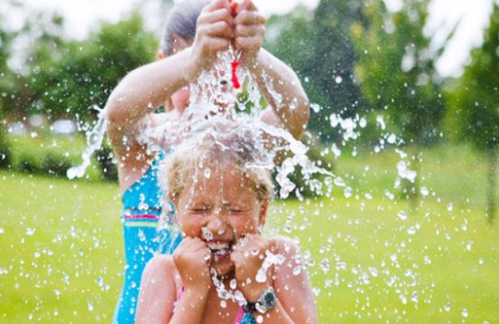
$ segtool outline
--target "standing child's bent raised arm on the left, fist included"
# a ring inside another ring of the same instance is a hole
[[[214,0],[204,7],[197,20],[193,45],[175,55],[141,66],[130,72],[113,90],[106,104],[108,136],[120,152],[129,151],[123,137],[130,138],[144,115],[165,103],[188,80],[209,70],[217,52],[229,48],[233,17],[226,0]],[[126,141],[125,141],[126,142]]]

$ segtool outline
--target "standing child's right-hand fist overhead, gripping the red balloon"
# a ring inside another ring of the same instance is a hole
[[[256,64],[265,34],[265,17],[251,0],[243,0],[236,9],[234,19],[234,47],[242,50],[241,64],[252,68]]]

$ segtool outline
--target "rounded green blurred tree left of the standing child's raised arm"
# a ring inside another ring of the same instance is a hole
[[[118,23],[102,24],[83,41],[62,38],[62,17],[54,15],[49,24],[32,42],[28,72],[18,77],[12,109],[24,115],[95,118],[91,107],[103,107],[119,80],[154,59],[158,46],[137,12]]]

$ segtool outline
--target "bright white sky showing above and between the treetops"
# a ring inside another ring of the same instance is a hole
[[[315,8],[319,0],[253,0],[266,16],[272,13],[286,13],[298,3]],[[385,0],[390,8],[396,9],[402,0]],[[493,0],[432,0],[426,31],[433,35],[433,45],[443,43],[458,23],[455,36],[437,68],[443,76],[457,76],[469,57],[470,49],[480,45],[483,29],[488,24]],[[67,34],[83,38],[98,20],[118,21],[139,0],[24,0],[24,4],[35,9],[54,9],[65,17]],[[154,10],[154,8],[153,8]],[[15,20],[15,17],[13,18]],[[21,19],[19,19],[21,20]],[[150,21],[162,25],[162,22]],[[149,25],[158,30],[157,26]]]

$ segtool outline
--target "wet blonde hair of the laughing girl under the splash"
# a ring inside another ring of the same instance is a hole
[[[185,141],[161,163],[159,182],[163,192],[175,202],[200,172],[231,164],[244,176],[259,202],[271,199],[272,163],[267,162],[267,153],[253,132],[230,123],[214,123],[207,129]]]

